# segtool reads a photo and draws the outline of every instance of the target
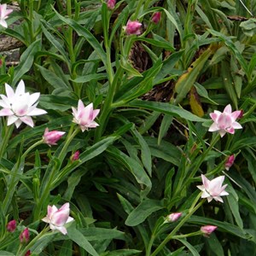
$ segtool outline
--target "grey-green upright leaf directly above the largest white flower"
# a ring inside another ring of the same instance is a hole
[[[23,54],[20,56],[20,63],[15,67],[15,77],[13,84],[16,84],[20,80],[21,76],[30,70],[34,61],[34,55],[38,52],[41,45],[41,39],[33,42],[29,45]]]

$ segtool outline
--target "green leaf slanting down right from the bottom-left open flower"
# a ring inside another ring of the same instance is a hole
[[[99,256],[94,247],[90,244],[90,242],[85,238],[85,236],[74,228],[69,228],[67,230],[67,236],[74,242],[76,242],[79,247],[84,248],[84,250],[90,253],[92,256]]]

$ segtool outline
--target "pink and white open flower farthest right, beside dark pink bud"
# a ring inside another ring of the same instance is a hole
[[[240,110],[232,113],[230,104],[224,108],[223,113],[219,112],[218,110],[214,110],[214,113],[210,113],[214,123],[210,126],[209,131],[218,131],[220,137],[224,137],[226,132],[234,134],[235,129],[242,129],[241,125],[236,122],[236,119],[240,114]]]

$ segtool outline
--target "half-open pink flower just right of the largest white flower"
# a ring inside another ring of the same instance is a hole
[[[93,104],[90,103],[88,106],[84,107],[84,103],[79,100],[78,110],[73,108],[73,122],[80,125],[81,130],[84,132],[89,128],[96,128],[98,124],[94,121],[96,116],[100,112],[100,109],[93,109]]]

